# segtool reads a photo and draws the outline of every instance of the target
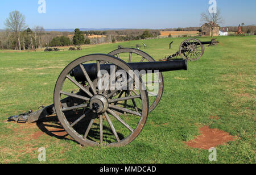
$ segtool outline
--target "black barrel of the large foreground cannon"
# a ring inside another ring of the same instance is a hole
[[[172,60],[172,61],[156,61],[156,62],[130,62],[128,63],[133,70],[155,70],[159,72],[168,72],[174,70],[187,70],[187,60]],[[86,72],[88,73],[91,80],[97,78],[97,65],[93,64],[83,64]],[[101,64],[101,70],[106,70],[110,74],[111,66],[114,64]],[[80,66],[77,66],[71,72],[71,76],[75,77],[76,81],[86,81],[84,73],[82,72]]]

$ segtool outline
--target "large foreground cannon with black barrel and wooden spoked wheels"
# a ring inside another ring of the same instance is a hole
[[[9,120],[32,123],[56,114],[68,135],[81,145],[125,146],[137,138],[158,105],[162,72],[174,70],[187,70],[187,60],[155,61],[132,48],[82,56],[60,73],[52,105]],[[151,80],[150,74],[154,74]],[[152,98],[149,84],[156,84]]]

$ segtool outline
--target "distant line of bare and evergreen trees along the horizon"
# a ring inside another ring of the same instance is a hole
[[[209,18],[210,19],[210,18]],[[74,32],[47,32],[43,27],[30,28],[26,25],[25,16],[19,11],[10,12],[5,21],[5,31],[0,31],[0,49],[38,49],[43,47],[57,47],[67,45],[114,43],[115,41],[141,40],[156,38],[160,31],[198,31],[200,27],[166,28],[162,30],[108,30],[108,31],[80,31]],[[222,27],[220,27],[221,30]],[[225,27],[226,28],[226,27]],[[228,27],[229,32],[236,32],[237,27]],[[255,33],[256,26],[241,24],[245,33]],[[97,35],[97,37],[90,37]]]

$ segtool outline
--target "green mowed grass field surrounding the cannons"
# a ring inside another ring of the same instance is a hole
[[[159,60],[175,53],[184,38],[85,46],[82,51],[0,51],[0,163],[40,163],[40,147],[46,148],[46,163],[256,163],[256,37],[217,39],[220,44],[206,47],[199,61],[188,62],[187,71],[163,73],[162,101],[148,116],[138,138],[120,148],[82,147],[45,134],[40,123],[6,119],[51,105],[61,70],[80,56],[145,43],[147,49],[142,50]],[[216,147],[216,162],[209,161],[208,150],[184,143],[200,135],[203,126],[236,138]]]

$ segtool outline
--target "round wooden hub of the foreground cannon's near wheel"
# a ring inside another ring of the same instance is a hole
[[[105,111],[109,107],[109,102],[106,97],[103,95],[94,95],[90,99],[90,109],[93,111],[93,113],[105,113]]]

